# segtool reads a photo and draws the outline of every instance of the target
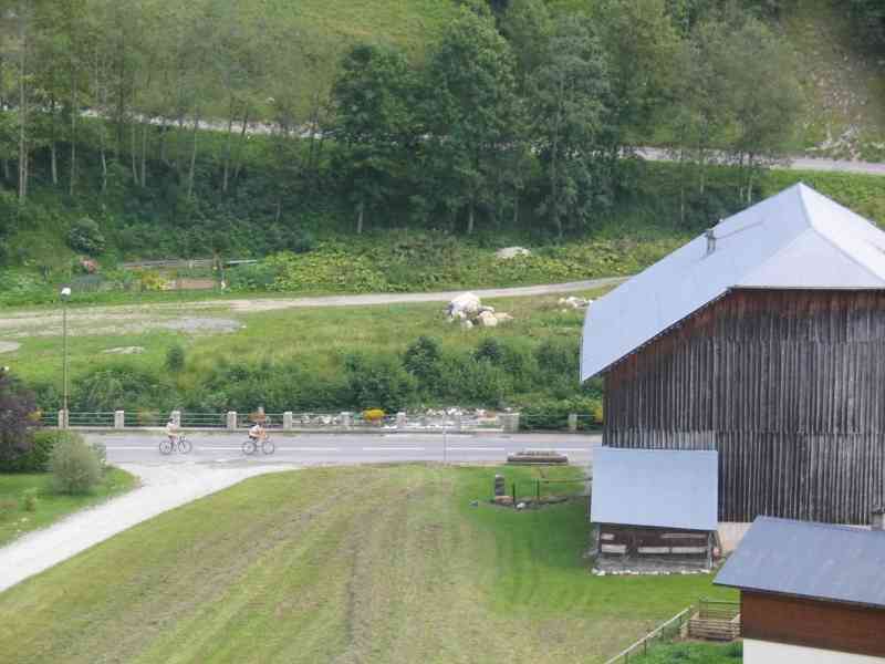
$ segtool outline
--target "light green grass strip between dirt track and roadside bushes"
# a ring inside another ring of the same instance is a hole
[[[596,298],[603,292],[596,290],[576,294]],[[545,339],[566,339],[576,344],[583,323],[583,311],[563,312],[556,305],[559,298],[560,295],[548,295],[488,300],[499,311],[510,312],[516,320],[491,331],[475,329],[469,332],[457,324],[445,322],[445,303],[275,311],[260,311],[261,307],[257,304],[254,309],[258,311],[254,313],[244,313],[242,310],[231,312],[222,302],[198,310],[188,304],[169,307],[163,303],[137,309],[81,308],[71,311],[70,369],[74,383],[79,375],[100,366],[156,371],[163,365],[167,350],[174,344],[181,344],[186,353],[186,365],[173,378],[181,391],[188,391],[209,372],[232,363],[258,365],[262,362],[292,362],[304,372],[316,376],[340,375],[344,357],[348,353],[400,353],[421,334],[438,339],[452,352],[473,349],[486,336],[510,340],[528,347]],[[51,310],[43,309],[38,315],[51,314]],[[84,318],[74,318],[77,314]],[[112,321],[110,323],[108,315]],[[114,328],[123,324],[117,317],[131,317],[129,322],[138,321],[137,325],[142,330],[115,333]],[[153,326],[166,320],[175,321],[188,317],[233,320],[244,328],[228,333],[189,334]],[[44,319],[37,319],[38,322]],[[14,339],[21,343],[21,347],[3,354],[3,363],[29,382],[60,384],[60,321],[56,319],[50,319],[46,324],[41,323],[37,328],[23,325],[7,331],[8,336],[0,339]],[[103,352],[127,346],[140,346],[144,352],[132,355]]]

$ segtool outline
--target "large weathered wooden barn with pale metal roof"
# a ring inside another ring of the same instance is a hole
[[[600,299],[603,445],[719,453],[720,521],[885,504],[885,234],[796,185]]]

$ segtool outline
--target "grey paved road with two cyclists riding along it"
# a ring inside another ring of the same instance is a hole
[[[523,449],[555,449],[570,461],[587,464],[592,449],[602,443],[597,435],[565,434],[281,434],[271,435],[277,453],[270,457],[244,457],[242,433],[194,433],[189,455],[160,456],[159,433],[90,434],[103,443],[113,464],[378,464],[393,461],[500,463]]]

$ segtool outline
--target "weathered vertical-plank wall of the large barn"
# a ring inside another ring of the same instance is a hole
[[[719,517],[885,504],[885,293],[733,291],[605,375],[604,442],[719,450]]]

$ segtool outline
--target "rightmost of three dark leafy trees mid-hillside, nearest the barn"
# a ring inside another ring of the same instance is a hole
[[[541,214],[559,238],[564,219],[586,221],[611,203],[601,154],[610,108],[605,54],[589,20],[561,19],[529,79],[532,136],[545,183]]]

